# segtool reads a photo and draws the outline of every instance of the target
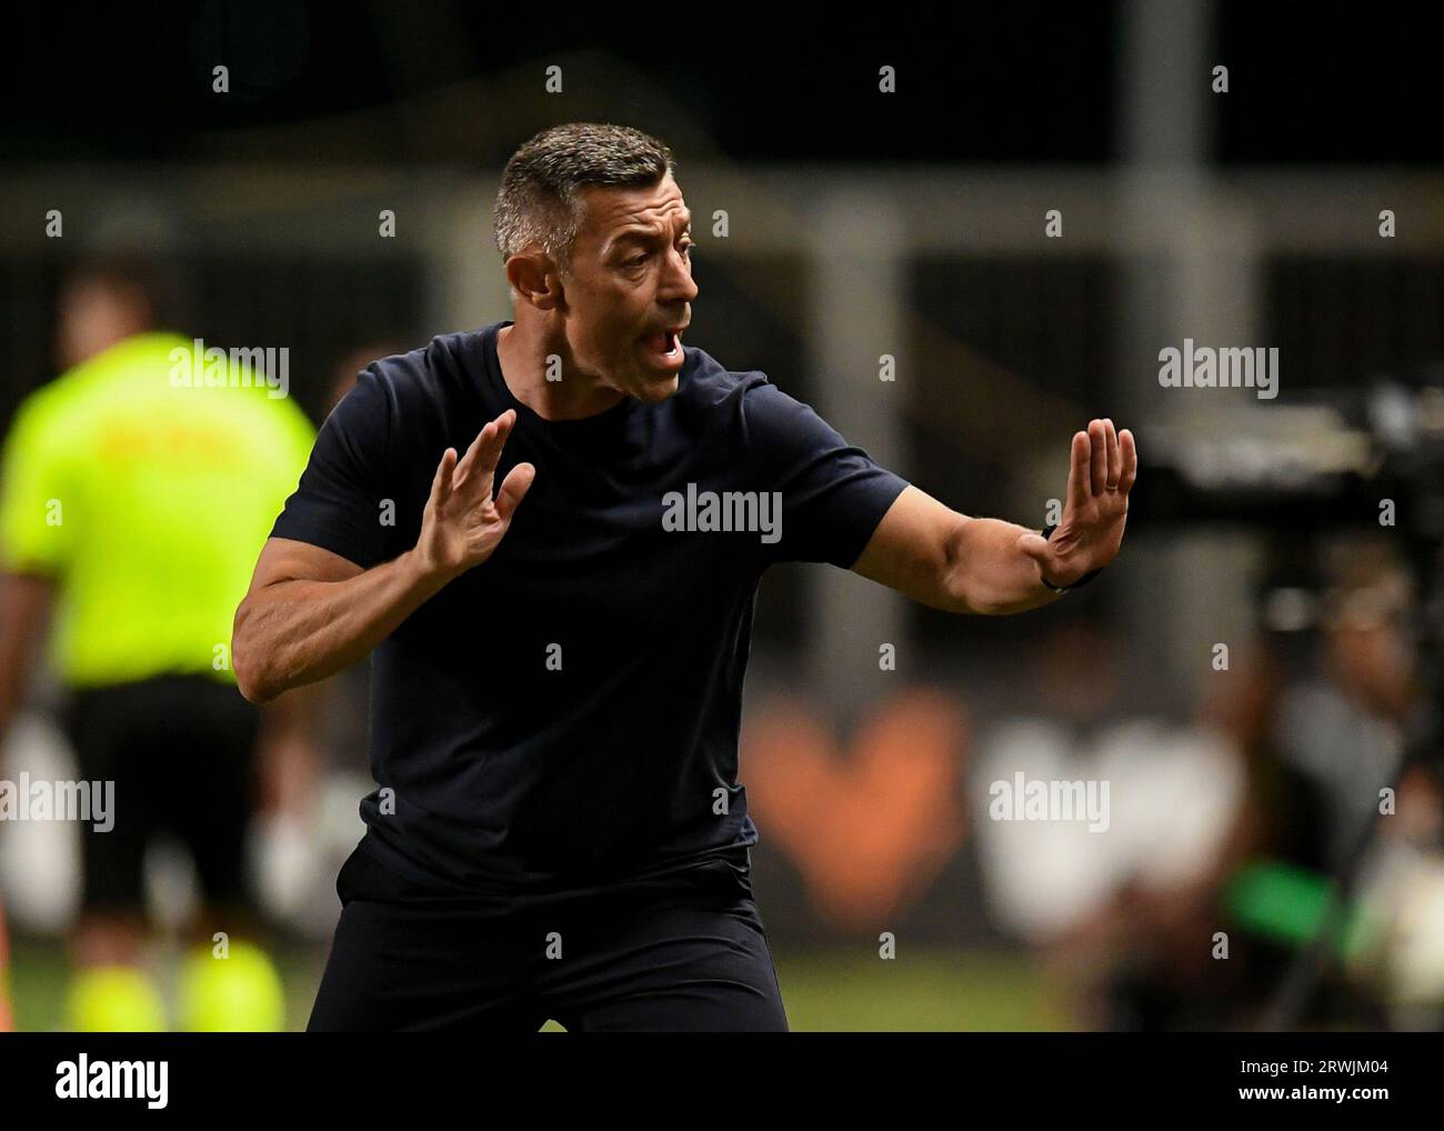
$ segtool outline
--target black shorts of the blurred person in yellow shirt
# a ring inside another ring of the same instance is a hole
[[[81,825],[84,906],[144,906],[144,857],[169,832],[195,859],[212,906],[245,906],[245,828],[260,712],[234,685],[157,676],[71,692],[65,729],[87,781],[114,781],[114,828]]]

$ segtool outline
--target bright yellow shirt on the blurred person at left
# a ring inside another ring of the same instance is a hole
[[[211,351],[206,351],[211,352]],[[32,393],[0,461],[0,568],[56,582],[72,686],[234,683],[231,623],[315,429],[283,386],[139,334]],[[274,380],[274,378],[273,378]]]

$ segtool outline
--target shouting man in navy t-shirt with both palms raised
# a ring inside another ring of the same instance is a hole
[[[531,139],[495,209],[514,319],[367,367],[276,520],[243,693],[373,654],[313,1030],[786,1030],[738,781],[762,572],[1001,614],[1118,553],[1126,429],[1074,435],[1056,530],[957,514],[682,344],[690,221],[660,142]]]

